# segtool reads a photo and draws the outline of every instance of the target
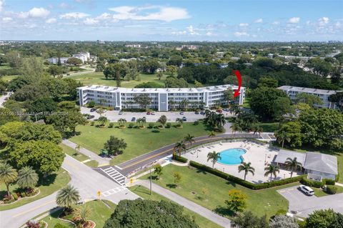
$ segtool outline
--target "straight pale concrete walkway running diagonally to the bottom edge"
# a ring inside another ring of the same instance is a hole
[[[149,181],[136,180],[136,182],[134,182],[134,183],[136,185],[139,184],[141,186],[144,186],[148,189],[150,187]],[[160,194],[163,197],[166,197],[166,198],[172,200],[173,202],[176,202],[177,204],[180,204],[180,205],[186,207],[187,209],[190,209],[192,212],[200,214],[202,217],[205,217],[205,218],[209,219],[210,221],[212,221],[216,224],[219,224],[219,226],[231,227],[231,225],[230,225],[231,222],[229,219],[224,218],[224,217],[220,216],[219,214],[216,214],[216,213],[210,211],[209,209],[204,208],[204,207],[200,206],[199,204],[196,204],[196,203],[190,201],[189,199],[181,197],[178,194],[176,194],[172,191],[169,191],[168,189],[164,189],[164,187],[161,187],[158,184],[152,183],[152,191],[156,192],[157,194]]]

